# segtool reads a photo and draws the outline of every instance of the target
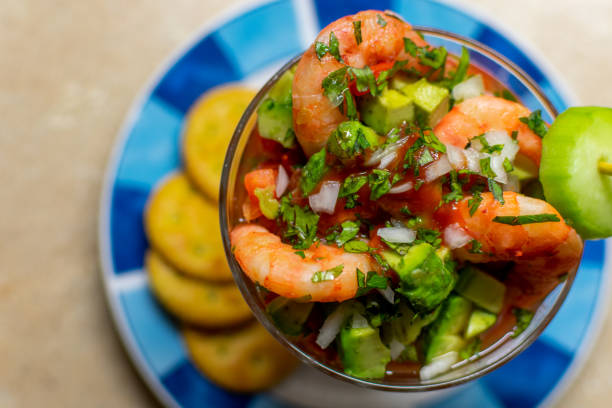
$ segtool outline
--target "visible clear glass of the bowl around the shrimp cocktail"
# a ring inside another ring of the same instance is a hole
[[[431,28],[414,28],[423,33],[430,44],[435,46],[443,45],[449,53],[459,55],[461,47],[465,46],[470,51],[471,63],[505,85],[506,88],[519,97],[527,108],[532,111],[540,109],[543,118],[549,123],[557,115],[552,103],[536,83],[502,55],[472,39],[456,34]],[[378,380],[365,380],[352,377],[327,365],[325,361],[318,360],[309,355],[280,332],[270,320],[265,312],[265,306],[258,295],[255,284],[244,274],[232,254],[229,232],[237,225],[238,219],[242,214],[241,203],[245,198],[245,192],[242,188],[244,174],[257,164],[256,157],[244,155],[251,131],[256,123],[257,108],[270,87],[285,71],[296,64],[300,57],[301,55],[293,58],[274,74],[250,103],[234,132],[223,165],[219,194],[223,244],[234,279],[257,319],[278,341],[284,344],[304,363],[316,367],[332,377],[379,390],[414,392],[453,387],[481,377],[510,361],[533,343],[555,316],[572,286],[576,270],[571,271],[568,274],[568,278],[546,297],[535,313],[530,325],[519,336],[511,338],[510,333],[507,333],[495,344],[481,351],[478,355],[453,365],[452,369],[447,373],[427,381],[420,380],[419,378],[398,379],[389,377]]]

